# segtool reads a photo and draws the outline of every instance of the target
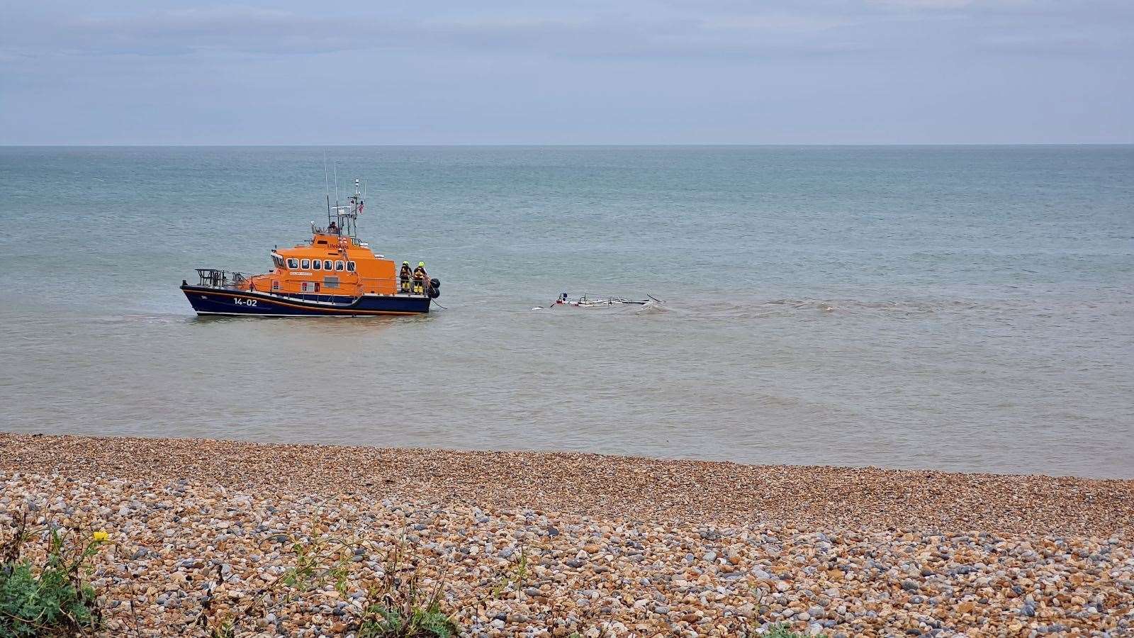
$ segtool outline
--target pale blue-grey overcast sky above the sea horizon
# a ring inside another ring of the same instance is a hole
[[[1134,142],[1134,0],[0,0],[0,144]]]

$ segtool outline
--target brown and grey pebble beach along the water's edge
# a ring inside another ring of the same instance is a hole
[[[467,636],[1134,635],[1134,480],[0,435],[0,534],[105,530],[105,635],[349,636],[405,557]]]

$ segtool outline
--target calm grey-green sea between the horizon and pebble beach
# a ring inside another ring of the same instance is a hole
[[[195,318],[323,152],[0,149],[0,430],[1134,477],[1134,146],[328,149],[447,309]]]

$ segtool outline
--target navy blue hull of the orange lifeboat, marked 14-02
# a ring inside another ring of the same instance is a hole
[[[423,314],[430,299],[407,295],[278,296],[247,291],[181,286],[197,314],[248,314],[260,317],[370,317],[376,314]]]

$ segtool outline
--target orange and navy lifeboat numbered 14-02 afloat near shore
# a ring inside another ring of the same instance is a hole
[[[261,317],[364,317],[422,314],[440,296],[428,275],[399,287],[397,265],[357,237],[365,202],[355,179],[347,205],[327,204],[325,228],[311,225],[311,242],[271,252],[272,270],[245,275],[197,268],[200,282],[181,280],[197,314]],[[424,272],[424,268],[422,269]]]

